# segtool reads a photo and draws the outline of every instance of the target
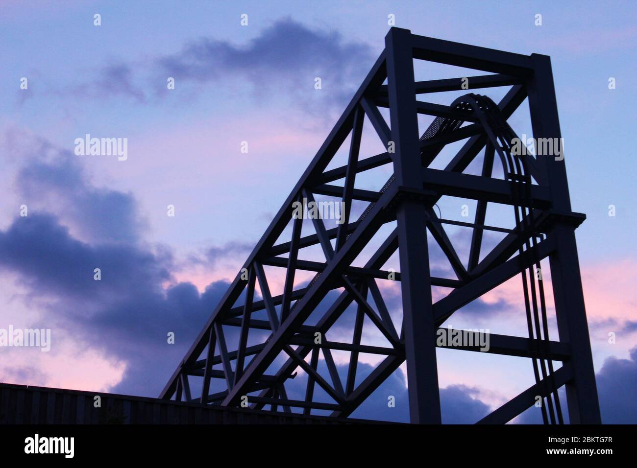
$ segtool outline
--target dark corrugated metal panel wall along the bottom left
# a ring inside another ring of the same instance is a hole
[[[101,397],[101,408],[94,398]],[[321,416],[0,383],[0,424],[347,424]]]

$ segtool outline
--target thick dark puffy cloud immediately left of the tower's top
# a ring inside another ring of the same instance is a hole
[[[247,46],[202,38],[158,63],[180,81],[208,83],[241,77],[260,95],[275,91],[307,97],[316,92],[314,79],[319,77],[327,101],[342,104],[351,98],[373,58],[368,45],[347,43],[338,32],[311,30],[285,18]]]

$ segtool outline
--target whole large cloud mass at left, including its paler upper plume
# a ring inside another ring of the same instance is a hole
[[[95,187],[79,157],[43,139],[3,137],[3,152],[19,161],[15,191],[29,214],[0,231],[0,271],[18,275],[24,301],[43,308],[44,327],[127,365],[116,391],[157,395],[228,283],[211,283],[203,294],[175,283],[175,259],[143,242],[131,194]],[[211,248],[208,260],[220,252]]]

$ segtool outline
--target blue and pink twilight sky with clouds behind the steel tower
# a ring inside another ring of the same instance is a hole
[[[48,353],[0,348],[0,381],[159,394],[382,50],[393,14],[415,34],[552,57],[571,202],[588,216],[577,238],[602,416],[637,422],[634,3],[220,5],[0,6],[0,328],[52,329]],[[420,80],[478,74],[416,71]],[[174,90],[166,89],[169,76]],[[481,93],[497,100],[505,91]],[[527,113],[524,103],[510,120],[518,134],[531,134]],[[75,155],[85,134],[127,138],[127,160]],[[366,134],[362,153],[379,146]],[[387,176],[380,170],[361,188]],[[611,204],[616,216],[608,216]],[[461,219],[459,201],[440,208]],[[504,219],[489,212],[487,223]],[[466,232],[449,232],[466,248]],[[434,270],[448,269],[437,259]],[[94,281],[95,267],[103,280]],[[469,304],[450,324],[523,336],[519,283]],[[396,290],[383,291],[399,313]],[[169,331],[174,345],[166,344]],[[533,383],[521,358],[439,350],[438,360],[447,422],[473,422]],[[388,392],[397,397],[393,412]],[[403,370],[374,398],[359,416],[404,418]]]

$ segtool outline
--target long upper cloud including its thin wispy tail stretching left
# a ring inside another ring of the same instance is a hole
[[[166,78],[175,87],[190,85],[192,99],[204,87],[234,86],[238,80],[250,84],[259,101],[286,99],[303,111],[340,112],[373,65],[371,48],[348,42],[335,31],[310,29],[291,18],[266,27],[247,45],[236,45],[211,37],[183,45],[170,55],[137,62],[111,60],[91,71],[82,82],[55,85],[47,92],[61,97],[104,99],[124,97],[138,103],[167,97]],[[158,79],[158,76],[163,78]],[[315,90],[315,78],[322,89]],[[22,102],[31,94],[22,94]]]

